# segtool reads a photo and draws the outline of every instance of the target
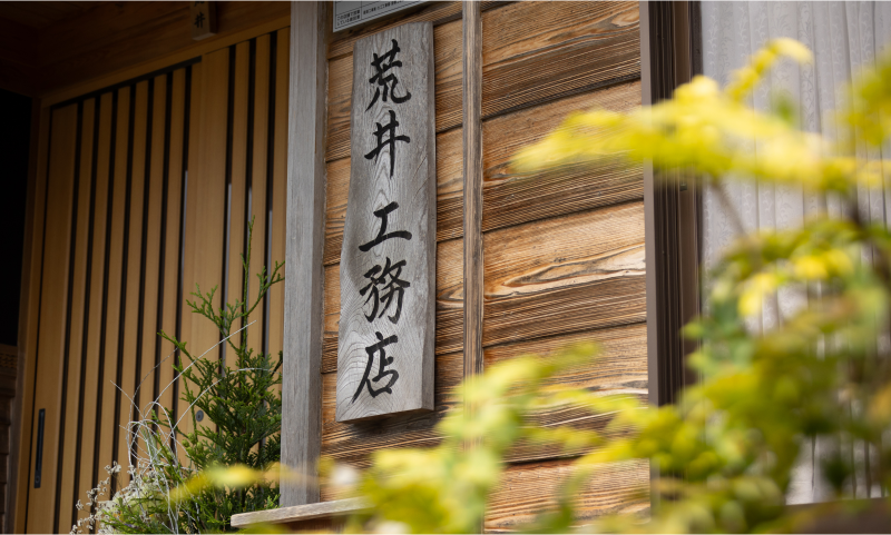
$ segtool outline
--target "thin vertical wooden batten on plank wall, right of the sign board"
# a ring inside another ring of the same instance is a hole
[[[482,373],[482,13],[463,11],[464,378]]]

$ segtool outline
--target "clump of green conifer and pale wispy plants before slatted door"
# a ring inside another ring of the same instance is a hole
[[[78,502],[78,509],[86,506],[89,515],[72,527],[72,535],[89,529],[109,535],[231,531],[232,515],[277,507],[277,482],[270,478],[253,478],[248,485],[224,482],[194,491],[187,486],[196,477],[222,467],[262,472],[277,465],[281,457],[282,396],[276,387],[282,383],[282,351],[277,356],[255,353],[246,345],[245,329],[270,288],[283,280],[283,264],[276,262],[268,274],[262,268],[256,274],[257,295],[249,296],[252,235],[253,220],[248,225],[247,255],[242,256],[241,299],[215,308],[216,287],[202,294],[196,286],[192,294],[195,300],[186,301],[194,314],[217,327],[221,344],[229,349],[227,363],[194,355],[186,343],[159,333],[184,357],[173,365],[174,380],[183,378],[182,400],[187,404],[192,430],[183,433],[173,412],[157,400],[146,412],[134,407],[139,418],[130,422],[129,449],[138,447],[140,455],[126,470],[129,480],[110,499],[101,502],[120,472],[117,463],[107,467],[109,477],[87,493],[86,504]],[[197,410],[207,415],[207,420],[199,424]],[[172,497],[174,489],[183,492]]]

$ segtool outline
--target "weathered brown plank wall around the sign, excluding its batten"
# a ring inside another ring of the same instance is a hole
[[[604,164],[535,175],[510,169],[511,156],[570,111],[624,111],[640,103],[638,2],[517,0],[482,2],[482,133],[486,365],[521,354],[547,355],[599,340],[593,369],[560,377],[570,386],[647,398],[643,175]],[[366,466],[385,447],[432,446],[433,426],[458,402],[462,361],[461,2],[446,1],[334,36],[329,47],[325,326],[322,455]],[[356,39],[414,20],[434,23],[437,105],[435,412],[376,423],[334,420],[339,262],[350,180],[352,47]],[[542,413],[542,423],[603,429],[608,418]],[[620,430],[617,433],[621,433]],[[509,483],[487,515],[499,532],[547,506],[572,453],[518,445]],[[559,457],[559,458],[558,458]],[[581,497],[581,515],[642,511],[623,489],[646,483],[645,463],[611,467]],[[322,499],[337,498],[323,486]]]

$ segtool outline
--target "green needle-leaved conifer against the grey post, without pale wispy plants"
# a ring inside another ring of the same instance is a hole
[[[256,274],[258,291],[249,295],[253,226],[252,219],[247,255],[242,255],[244,288],[241,299],[215,308],[217,287],[202,293],[196,285],[192,294],[195,300],[186,301],[194,314],[209,319],[219,330],[221,344],[227,348],[225,361],[194,355],[186,343],[160,333],[185,357],[174,368],[184,379],[182,399],[188,404],[193,430],[177,434],[183,437],[186,455],[199,470],[234,465],[265,469],[281,458],[282,394],[277,385],[282,384],[282,351],[273,356],[248,348],[246,328],[251,314],[264,303],[270,288],[284,280],[280,273],[284,264],[276,261],[271,273],[264,266]],[[198,423],[197,410],[204,412],[207,419]],[[208,492],[214,494],[214,516],[225,522],[226,527],[232,515],[278,504],[278,487],[272,482]]]

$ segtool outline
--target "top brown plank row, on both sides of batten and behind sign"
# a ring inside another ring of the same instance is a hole
[[[482,118],[640,76],[635,0],[520,0],[482,13]],[[461,27],[434,29],[437,131],[461,123]],[[329,161],[349,153],[349,56],[329,69]]]

